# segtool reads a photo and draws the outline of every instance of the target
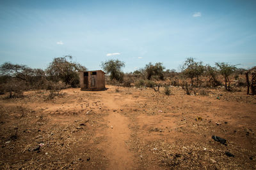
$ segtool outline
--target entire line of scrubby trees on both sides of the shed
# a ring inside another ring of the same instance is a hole
[[[179,80],[187,79],[191,87],[200,87],[205,83],[208,87],[217,87],[221,85],[217,78],[221,75],[225,89],[230,90],[230,75],[246,71],[227,62],[217,62],[215,66],[204,65],[192,57],[186,59],[180,72],[166,69],[161,62],[149,62],[131,73],[122,71],[125,63],[118,59],[106,60],[100,66],[108,75],[108,83],[125,87],[131,87],[132,83],[137,87],[154,87],[155,81],[166,79],[171,80],[171,85],[180,85]],[[0,92],[9,92],[10,97],[19,96],[23,90],[52,90],[58,93],[67,87],[79,87],[78,71],[86,71],[86,67],[74,62],[70,55],[54,58],[45,70],[5,62],[0,66]],[[202,77],[207,80],[202,80]]]

